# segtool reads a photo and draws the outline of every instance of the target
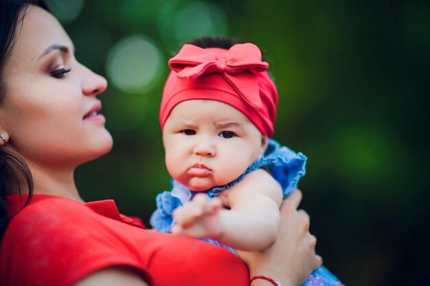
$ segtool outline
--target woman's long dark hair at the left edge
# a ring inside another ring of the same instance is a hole
[[[43,0],[0,0],[0,104],[5,95],[5,82],[3,82],[3,67],[10,56],[16,35],[19,34],[19,22],[23,21],[28,5],[36,5],[48,11]],[[24,12],[21,13],[21,10]],[[28,198],[25,205],[30,202],[33,193],[33,178],[29,167],[17,154],[6,152],[0,147],[0,235],[8,224],[10,215],[5,204],[5,195],[12,189],[21,192],[20,182],[25,182],[28,188]],[[24,206],[25,206],[24,205]]]

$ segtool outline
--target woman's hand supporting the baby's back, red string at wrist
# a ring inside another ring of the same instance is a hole
[[[293,191],[282,202],[281,222],[275,243],[259,252],[238,252],[247,263],[250,276],[267,276],[283,286],[301,285],[313,270],[322,264],[315,254],[317,239],[309,233],[309,216],[297,210],[302,200],[302,192]],[[252,286],[271,285],[267,281],[256,280]]]

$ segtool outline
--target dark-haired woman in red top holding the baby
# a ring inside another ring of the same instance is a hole
[[[277,242],[247,253],[249,272],[209,243],[143,230],[111,200],[84,203],[74,170],[112,147],[106,80],[76,61],[43,1],[0,0],[0,21],[1,285],[285,286],[321,265],[298,191]]]

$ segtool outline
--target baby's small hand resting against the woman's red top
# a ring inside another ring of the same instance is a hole
[[[174,211],[172,217],[177,224],[172,227],[172,233],[217,239],[222,234],[220,209],[221,201],[218,198],[210,201],[206,195],[196,195],[190,203]]]

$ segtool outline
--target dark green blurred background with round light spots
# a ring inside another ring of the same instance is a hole
[[[106,76],[110,154],[78,169],[84,200],[148,222],[170,189],[158,108],[167,60],[196,36],[263,51],[275,139],[308,156],[302,207],[349,286],[429,283],[429,1],[53,0],[83,64]],[[426,131],[427,130],[427,131]]]

